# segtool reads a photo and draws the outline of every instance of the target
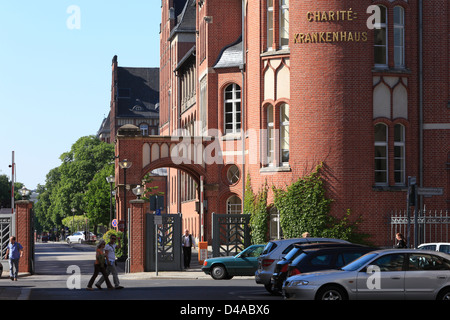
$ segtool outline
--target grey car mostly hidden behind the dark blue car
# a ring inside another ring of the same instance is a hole
[[[263,284],[266,290],[272,293],[272,275],[277,262],[291,251],[295,244],[320,242],[349,243],[345,240],[330,238],[293,238],[269,241],[258,258],[258,269],[255,272],[256,283]]]

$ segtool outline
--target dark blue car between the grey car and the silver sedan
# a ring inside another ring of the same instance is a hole
[[[281,294],[283,282],[291,275],[318,270],[339,269],[375,249],[358,244],[332,242],[295,245],[275,266],[272,276],[272,292]]]

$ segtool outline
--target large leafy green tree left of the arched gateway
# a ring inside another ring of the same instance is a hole
[[[112,173],[113,157],[114,146],[95,136],[81,137],[60,156],[61,165],[50,170],[37,190],[34,211],[44,230],[62,227],[72,209],[77,215],[85,213],[94,226],[109,220],[106,175]]]

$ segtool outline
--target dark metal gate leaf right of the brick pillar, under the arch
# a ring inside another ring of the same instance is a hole
[[[147,213],[145,271],[182,270],[181,214],[162,214],[159,217],[161,223],[157,221],[155,224],[155,215]]]

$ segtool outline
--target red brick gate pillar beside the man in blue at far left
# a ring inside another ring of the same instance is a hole
[[[16,201],[16,241],[23,246],[23,256],[19,261],[19,272],[32,272],[33,234],[31,225],[31,209],[33,202],[29,200]]]

